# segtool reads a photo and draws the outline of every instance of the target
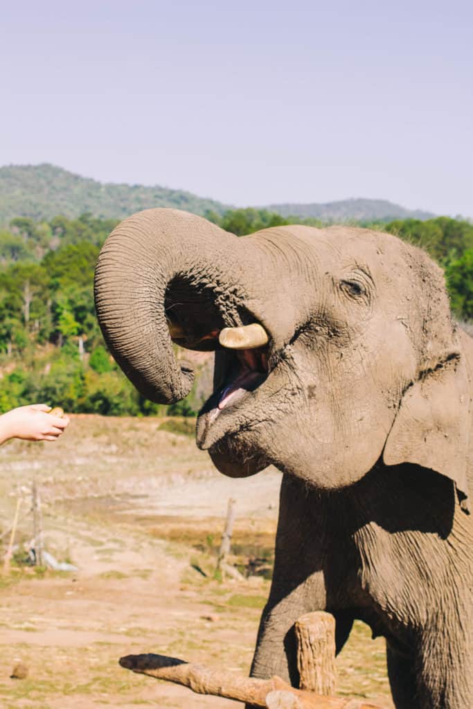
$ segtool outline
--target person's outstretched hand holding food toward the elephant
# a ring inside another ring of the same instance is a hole
[[[67,416],[50,414],[50,406],[36,403],[19,406],[0,416],[0,445],[10,438],[27,441],[55,441],[64,432],[69,419]]]

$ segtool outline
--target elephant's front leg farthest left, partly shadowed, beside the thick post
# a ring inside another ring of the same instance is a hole
[[[301,481],[284,476],[273,581],[251,670],[252,676],[262,679],[277,674],[293,686],[299,682],[294,623],[304,613],[325,610],[326,604],[321,569],[324,515],[313,509],[308,494]]]

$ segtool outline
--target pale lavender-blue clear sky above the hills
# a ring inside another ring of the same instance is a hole
[[[0,164],[473,217],[473,4],[17,0]]]

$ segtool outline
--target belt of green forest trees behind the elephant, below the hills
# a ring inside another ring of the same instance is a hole
[[[264,209],[235,209],[207,218],[244,235],[316,220]],[[196,376],[186,400],[170,407],[146,401],[106,350],[94,311],[96,259],[115,220],[84,214],[49,222],[11,220],[0,231],[0,411],[45,401],[68,411],[104,415],[195,415],[208,374]],[[473,225],[438,217],[369,225],[423,247],[445,269],[452,310],[473,318]]]

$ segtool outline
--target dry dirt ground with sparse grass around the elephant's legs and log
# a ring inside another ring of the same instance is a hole
[[[78,571],[13,566],[0,578],[0,705],[4,709],[230,709],[230,700],[121,669],[122,655],[157,652],[247,674],[277,521],[279,474],[231,480],[186,435],[155,418],[77,415],[53,444],[0,451],[0,533],[16,498],[18,541],[33,536],[31,486],[42,500],[45,548]],[[214,577],[228,498],[242,580]],[[21,557],[22,546],[16,559]],[[28,676],[11,679],[19,662]],[[338,692],[392,708],[384,641],[357,623],[338,657]]]

